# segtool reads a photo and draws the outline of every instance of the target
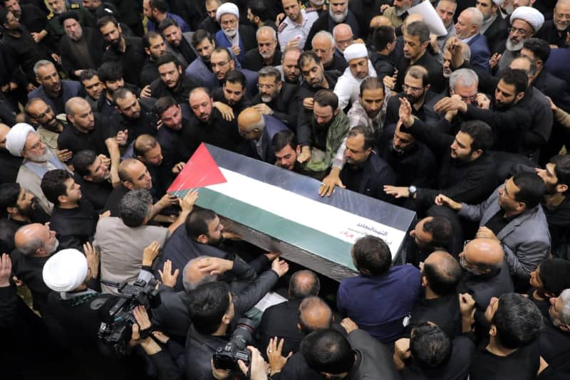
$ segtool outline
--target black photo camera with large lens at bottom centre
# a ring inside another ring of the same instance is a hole
[[[214,367],[239,371],[238,360],[249,366],[249,363],[252,361],[252,352],[246,347],[253,342],[255,329],[252,327],[252,324],[253,321],[247,318],[240,318],[237,321],[236,328],[232,333],[232,337],[229,338],[229,342],[214,353]]]

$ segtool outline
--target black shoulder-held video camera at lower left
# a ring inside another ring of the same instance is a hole
[[[133,309],[138,305],[146,309],[160,305],[156,284],[154,278],[148,283],[140,279],[133,285],[121,283],[118,287],[118,300],[114,304],[111,303],[110,308],[101,307],[100,318],[103,322],[97,335],[118,357],[125,356],[125,347],[133,332],[133,324],[137,323]]]

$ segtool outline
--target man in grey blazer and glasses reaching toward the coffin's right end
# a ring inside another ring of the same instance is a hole
[[[540,206],[545,192],[540,176],[522,172],[507,179],[481,204],[459,203],[443,194],[435,203],[457,211],[468,221],[478,221],[477,238],[502,245],[515,285],[522,289],[550,252],[548,223]]]

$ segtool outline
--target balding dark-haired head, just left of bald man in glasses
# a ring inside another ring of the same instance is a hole
[[[461,265],[444,250],[436,250],[425,259],[422,269],[422,286],[430,287],[437,295],[455,293],[461,280]]]

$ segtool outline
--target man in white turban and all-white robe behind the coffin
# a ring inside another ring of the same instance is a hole
[[[363,43],[353,43],[344,49],[344,59],[348,68],[338,78],[334,93],[338,96],[338,108],[343,110],[360,96],[360,86],[366,77],[375,77],[376,70],[368,59],[368,50]]]

